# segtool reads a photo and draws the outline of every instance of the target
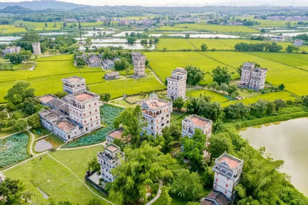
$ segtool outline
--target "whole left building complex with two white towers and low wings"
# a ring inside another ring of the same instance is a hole
[[[64,141],[83,136],[100,128],[99,96],[86,90],[85,79],[77,76],[62,79],[63,91],[71,93],[62,99],[52,94],[38,97],[51,109],[39,112],[42,126]]]

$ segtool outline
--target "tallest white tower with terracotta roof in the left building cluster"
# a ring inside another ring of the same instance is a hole
[[[101,126],[99,95],[87,90],[66,96],[71,121],[79,125],[81,133],[88,133]]]

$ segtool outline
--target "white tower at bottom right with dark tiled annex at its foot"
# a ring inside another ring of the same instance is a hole
[[[212,170],[215,171],[213,191],[201,199],[201,205],[229,205],[235,202],[237,186],[244,161],[223,153],[216,158]]]

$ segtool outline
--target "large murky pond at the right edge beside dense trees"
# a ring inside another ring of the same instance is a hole
[[[308,118],[243,128],[238,133],[254,148],[265,147],[274,160],[284,160],[282,172],[291,175],[291,183],[308,196]],[[244,161],[245,163],[245,161]]]

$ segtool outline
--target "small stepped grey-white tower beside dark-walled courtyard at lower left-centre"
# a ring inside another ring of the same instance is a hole
[[[104,181],[113,182],[116,176],[112,175],[111,171],[121,165],[121,161],[125,160],[124,153],[120,147],[110,143],[105,147],[104,152],[97,153],[97,160],[100,164],[101,177]]]

